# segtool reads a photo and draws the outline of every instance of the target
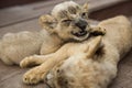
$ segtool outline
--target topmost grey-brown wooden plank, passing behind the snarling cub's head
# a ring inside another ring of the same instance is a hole
[[[38,18],[41,14],[48,13],[56,3],[63,1],[64,0],[41,1],[37,3],[2,9],[0,10],[0,26]],[[121,1],[124,0],[76,0],[78,3],[89,2],[90,11],[102,9]]]

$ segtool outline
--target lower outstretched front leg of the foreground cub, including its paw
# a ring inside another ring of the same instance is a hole
[[[43,56],[42,56],[43,57]],[[32,69],[30,69],[28,73],[23,76],[23,81],[25,84],[37,84],[38,81],[43,80],[44,77],[48,74],[48,72],[57,64],[62,58],[66,58],[65,55],[59,56],[52,55],[46,59],[45,63],[43,63],[40,66],[36,66]]]

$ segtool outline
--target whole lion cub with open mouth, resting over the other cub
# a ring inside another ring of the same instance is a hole
[[[73,1],[63,4],[57,6],[52,15],[40,18],[43,31],[6,34],[0,41],[2,62],[7,65],[20,64],[26,56],[54,53],[67,42],[80,42],[87,40],[89,34],[105,33],[100,28],[89,26],[87,4],[80,7]]]

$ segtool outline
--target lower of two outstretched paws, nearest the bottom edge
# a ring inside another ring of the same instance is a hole
[[[41,74],[37,73],[37,67],[29,70],[23,76],[23,82],[25,84],[37,84],[43,80],[43,77]]]

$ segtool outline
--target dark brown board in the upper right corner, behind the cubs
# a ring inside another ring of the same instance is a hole
[[[89,14],[89,18],[101,21],[120,14],[132,16],[132,0],[94,11]]]

